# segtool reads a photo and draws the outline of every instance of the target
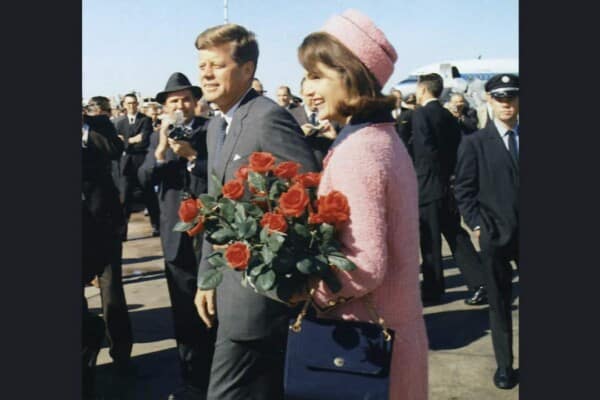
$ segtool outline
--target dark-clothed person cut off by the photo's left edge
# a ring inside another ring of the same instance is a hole
[[[111,160],[123,143],[108,117],[82,117],[82,296],[83,288],[113,259],[122,223],[119,193],[111,176]],[[131,335],[131,333],[130,333]],[[94,366],[104,338],[104,323],[91,314],[83,296],[82,378],[84,397],[93,398]],[[126,338],[123,338],[126,339]],[[129,337],[131,350],[131,336]],[[111,356],[113,347],[111,346]],[[129,354],[127,354],[129,356]]]

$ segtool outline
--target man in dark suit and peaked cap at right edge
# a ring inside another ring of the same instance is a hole
[[[493,76],[485,85],[495,116],[466,136],[458,151],[456,201],[479,237],[490,304],[490,327],[501,389],[516,384],[512,368],[512,267],[519,261],[519,78]]]

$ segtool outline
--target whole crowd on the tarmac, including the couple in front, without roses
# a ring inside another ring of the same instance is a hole
[[[439,304],[445,293],[442,235],[470,290],[465,303],[489,304],[498,366],[493,382],[514,387],[510,261],[518,261],[518,77],[492,77],[477,108],[464,93],[441,101],[443,80],[435,73],[419,77],[416,93],[385,95],[396,51],[354,10],[331,18],[299,45],[306,71],[300,97],[285,85],[276,101],[266,96],[254,76],[257,40],[242,26],[206,29],[195,45],[200,86],[174,72],[164,90],[141,105],[129,93],[118,105],[92,97],[83,109],[83,285],[97,285],[102,301],[102,318],[83,301],[85,396],[93,398],[104,337],[116,371],[131,369],[121,256],[129,216],[143,203],[152,235],[160,236],[184,382],[169,399],[283,398],[294,304],[243,287],[234,269],[225,271],[218,289],[200,289],[198,275],[212,268],[213,247],[173,231],[184,194],[211,190],[209,173],[222,183],[234,179],[256,151],[320,172],[319,195],[346,195],[350,220],[338,227],[339,240],[357,271],[336,272],[342,290],[335,294],[316,282],[312,300],[321,317],[372,321],[357,301],[370,296],[396,332],[390,399],[427,398],[423,306]],[[478,237],[480,253],[463,222]]]

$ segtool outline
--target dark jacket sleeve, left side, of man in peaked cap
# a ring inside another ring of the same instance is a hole
[[[454,197],[460,214],[469,228],[480,226],[477,154],[472,137],[465,137],[458,147],[456,162],[456,179],[454,181]]]

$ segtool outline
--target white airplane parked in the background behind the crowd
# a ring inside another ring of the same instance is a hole
[[[466,92],[472,82],[482,83],[496,74],[519,75],[519,60],[516,58],[450,60],[424,65],[412,71],[408,77],[394,85],[403,96],[414,93],[419,75],[437,73],[444,80],[444,88]]]

